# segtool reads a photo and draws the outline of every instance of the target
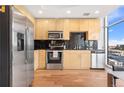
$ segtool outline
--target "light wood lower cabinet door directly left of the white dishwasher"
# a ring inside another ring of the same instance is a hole
[[[81,53],[81,69],[90,69],[90,51],[86,53]]]

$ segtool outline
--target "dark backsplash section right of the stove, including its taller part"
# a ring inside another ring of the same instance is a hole
[[[97,40],[87,40],[86,33],[83,32],[71,32],[70,40],[66,41],[67,49],[76,50],[97,50]]]

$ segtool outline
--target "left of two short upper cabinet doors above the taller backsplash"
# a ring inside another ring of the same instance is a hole
[[[70,31],[80,31],[80,20],[70,19]]]

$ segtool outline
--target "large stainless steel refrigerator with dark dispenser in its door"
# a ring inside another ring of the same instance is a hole
[[[28,18],[12,8],[11,86],[30,86],[34,77],[34,26]]]

